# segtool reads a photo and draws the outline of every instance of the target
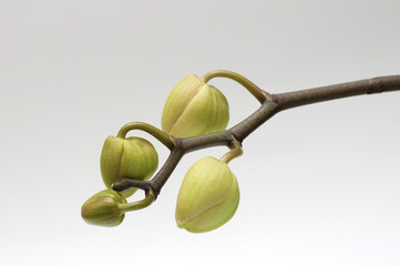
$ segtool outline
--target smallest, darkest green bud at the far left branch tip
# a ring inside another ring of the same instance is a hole
[[[120,193],[105,190],[94,194],[82,205],[81,215],[88,224],[117,226],[125,217],[119,208],[124,203],[126,200]]]

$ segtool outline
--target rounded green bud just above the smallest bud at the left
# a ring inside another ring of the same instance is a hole
[[[142,137],[109,136],[103,145],[100,168],[107,188],[119,178],[150,180],[158,166],[158,155],[154,146]],[[131,196],[136,188],[121,192]]]

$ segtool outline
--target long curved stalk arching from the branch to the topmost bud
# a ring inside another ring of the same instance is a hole
[[[226,70],[214,70],[208,72],[207,74],[202,76],[202,80],[207,83],[209,80],[214,78],[227,78],[230,80],[234,80],[242,84],[244,88],[247,89],[257,100],[259,103],[263,103],[265,100],[271,100],[271,96],[259,89],[256,84],[254,84],[252,81],[247,80],[245,76]]]

